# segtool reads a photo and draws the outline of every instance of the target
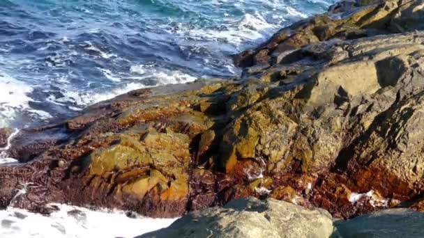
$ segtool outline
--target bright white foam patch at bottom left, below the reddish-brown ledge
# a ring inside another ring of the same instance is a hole
[[[0,211],[1,238],[86,238],[135,237],[166,228],[176,219],[128,218],[123,211],[93,211],[83,207],[55,204],[50,216],[23,209]]]

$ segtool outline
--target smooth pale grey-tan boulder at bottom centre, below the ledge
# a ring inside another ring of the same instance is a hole
[[[333,221],[321,209],[245,198],[223,208],[191,212],[169,228],[142,237],[330,237]]]

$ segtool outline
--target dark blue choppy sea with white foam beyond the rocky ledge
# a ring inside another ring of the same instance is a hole
[[[231,55],[335,0],[0,0],[0,127],[128,90],[239,76]]]

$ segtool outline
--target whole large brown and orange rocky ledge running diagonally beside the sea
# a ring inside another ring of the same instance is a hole
[[[255,196],[340,218],[424,209],[423,0],[342,1],[235,63],[240,79],[135,90],[22,129],[0,207],[169,217]]]

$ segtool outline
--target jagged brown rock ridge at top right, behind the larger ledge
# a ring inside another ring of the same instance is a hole
[[[280,63],[285,52],[322,41],[422,30],[423,9],[419,0],[341,1],[328,13],[293,24],[257,49],[242,52],[234,58],[234,64],[252,68],[275,57],[273,63]]]

